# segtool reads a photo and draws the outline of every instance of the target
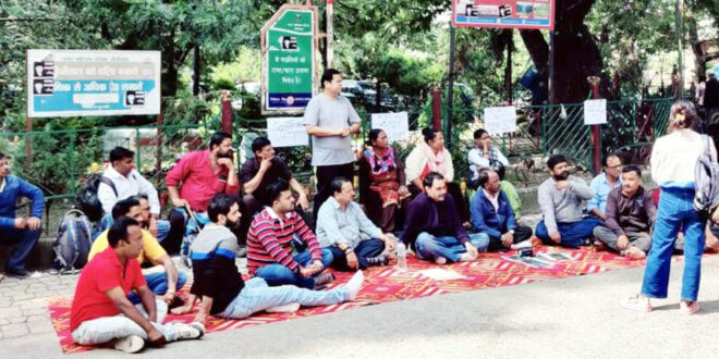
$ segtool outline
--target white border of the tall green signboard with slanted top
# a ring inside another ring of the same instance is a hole
[[[312,96],[317,95],[318,84],[319,84],[319,65],[318,60],[318,49],[319,49],[319,15],[317,7],[315,5],[303,5],[303,4],[283,4],[280,10],[278,10],[275,15],[263,26],[259,34],[259,44],[260,44],[260,110],[264,115],[297,115],[302,114],[305,111],[305,107],[288,107],[288,108],[270,108],[269,107],[269,44],[268,44],[268,33],[275,26],[277,22],[284,15],[285,12],[290,10],[298,11],[308,11],[312,12],[313,18],[313,49],[312,53]]]

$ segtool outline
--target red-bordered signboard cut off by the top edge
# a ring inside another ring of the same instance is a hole
[[[458,9],[458,4],[465,4],[470,5],[470,2],[472,2],[471,5],[473,7],[496,7],[497,8],[497,16],[493,15],[477,15],[476,20],[474,22],[470,21],[470,16],[466,14],[463,16],[465,17],[465,21],[459,21],[458,17],[461,15],[458,14],[458,11],[461,11],[462,9]],[[525,2],[525,1],[519,1],[519,2]],[[532,3],[533,10],[534,5],[536,3],[541,3],[545,1],[526,1],[527,3]],[[546,1],[548,4],[548,11],[549,11],[549,23],[548,24],[527,24],[525,18],[517,18],[513,17],[514,14],[517,13],[517,1],[516,0],[452,0],[452,25],[454,27],[487,27],[487,28],[517,28],[517,29],[549,29],[553,30],[555,29],[555,20],[556,20],[556,13],[555,10],[557,8],[557,0],[547,0]],[[508,15],[505,17],[510,17],[514,20],[513,23],[501,23],[500,18],[502,16],[500,15],[501,9],[507,8],[507,5],[511,5],[511,15]],[[491,18],[497,18],[496,22],[490,22]]]

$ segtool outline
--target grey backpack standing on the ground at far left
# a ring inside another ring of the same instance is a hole
[[[56,268],[61,273],[83,268],[92,246],[93,230],[85,213],[76,209],[65,212],[52,244]]]

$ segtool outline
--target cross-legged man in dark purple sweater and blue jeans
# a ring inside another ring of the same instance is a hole
[[[444,176],[429,172],[423,181],[424,191],[411,203],[402,242],[415,248],[417,258],[447,261],[471,261],[486,251],[489,237],[484,233],[467,235],[452,195],[447,193]]]

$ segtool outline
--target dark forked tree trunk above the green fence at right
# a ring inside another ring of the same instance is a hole
[[[599,76],[602,98],[611,97],[610,82],[604,71],[599,48],[584,25],[584,18],[595,0],[557,0],[555,23],[555,63],[549,64],[549,47],[538,30],[522,32],[522,40],[535,63],[535,67],[547,83],[548,66],[553,65],[553,103],[574,103],[587,98],[592,87],[589,76]]]

